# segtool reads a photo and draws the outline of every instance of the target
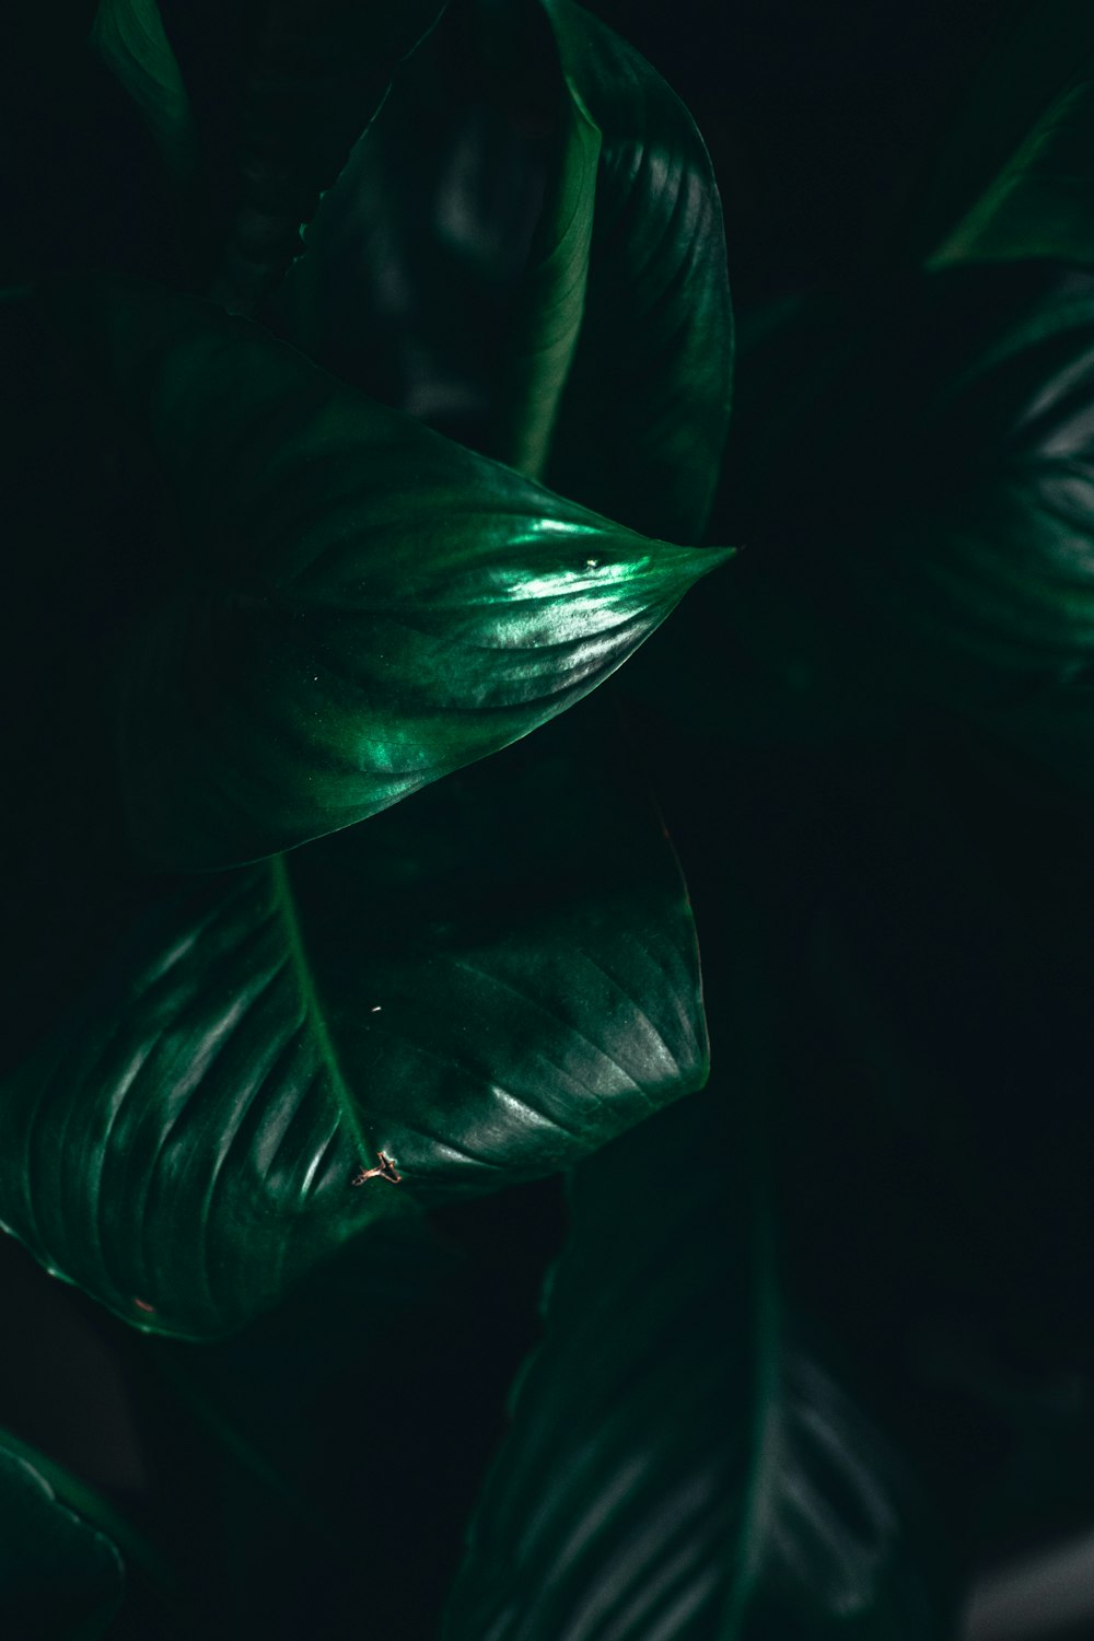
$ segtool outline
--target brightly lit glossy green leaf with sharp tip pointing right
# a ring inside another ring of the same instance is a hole
[[[48,310],[184,520],[120,704],[133,834],[161,863],[271,855],[497,752],[727,556],[609,523],[205,304],[102,284]]]

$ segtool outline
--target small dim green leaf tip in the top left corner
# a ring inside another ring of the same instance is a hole
[[[156,0],[100,0],[90,46],[141,110],[167,167],[179,179],[192,177],[194,110]]]

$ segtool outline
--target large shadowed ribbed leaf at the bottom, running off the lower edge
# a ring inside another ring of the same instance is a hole
[[[915,1488],[781,1293],[740,1093],[577,1170],[446,1641],[943,1633]]]

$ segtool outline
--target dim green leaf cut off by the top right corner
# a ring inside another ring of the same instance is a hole
[[[999,31],[938,159],[932,266],[1094,261],[1094,18],[1084,0],[1025,5]]]

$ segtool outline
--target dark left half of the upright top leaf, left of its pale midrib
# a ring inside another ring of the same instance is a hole
[[[497,407],[508,381],[518,409],[507,359],[561,112],[538,0],[449,8],[323,197],[271,307],[279,333],[461,443],[512,455]]]

